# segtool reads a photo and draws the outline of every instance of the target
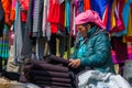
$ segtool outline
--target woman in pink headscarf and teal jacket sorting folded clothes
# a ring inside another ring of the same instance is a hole
[[[102,73],[114,73],[109,34],[96,11],[87,10],[75,18],[78,35],[69,66],[88,66]]]

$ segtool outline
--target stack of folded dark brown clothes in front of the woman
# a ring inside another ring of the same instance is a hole
[[[41,88],[72,88],[73,76],[68,67],[69,61],[54,55],[44,61],[30,59],[24,65],[20,81],[30,81]]]

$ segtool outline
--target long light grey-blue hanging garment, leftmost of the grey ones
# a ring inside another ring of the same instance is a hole
[[[22,22],[21,19],[21,7],[19,6],[19,1],[15,6],[15,21],[14,21],[14,61],[13,63],[22,63],[25,56],[22,54],[23,45],[25,43],[25,22]]]

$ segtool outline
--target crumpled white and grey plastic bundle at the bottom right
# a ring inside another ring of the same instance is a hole
[[[88,70],[78,76],[78,88],[132,88],[120,75]]]

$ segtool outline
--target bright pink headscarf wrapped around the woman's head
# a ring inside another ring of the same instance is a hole
[[[94,22],[101,29],[106,29],[103,22],[99,18],[99,14],[94,10],[87,10],[85,12],[81,12],[75,18],[75,24],[84,24],[87,22]]]

